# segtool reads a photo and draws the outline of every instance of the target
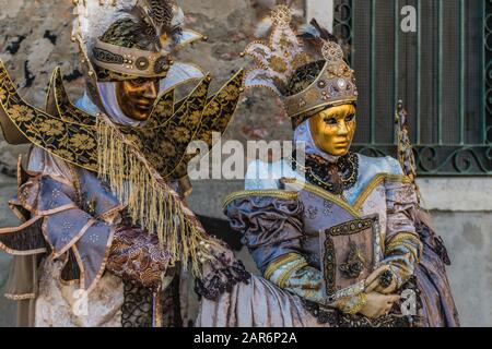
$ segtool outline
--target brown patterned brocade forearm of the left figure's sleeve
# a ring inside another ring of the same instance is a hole
[[[124,280],[157,291],[171,255],[155,234],[126,226],[116,228],[106,268]]]

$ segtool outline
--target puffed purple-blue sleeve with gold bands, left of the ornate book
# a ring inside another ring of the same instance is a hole
[[[323,302],[321,273],[308,265],[301,248],[303,206],[296,198],[253,195],[230,203],[225,213],[266,279]]]

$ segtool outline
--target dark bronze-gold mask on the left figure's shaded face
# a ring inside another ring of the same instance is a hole
[[[130,119],[145,121],[159,95],[159,81],[136,79],[116,82],[116,98],[121,111]]]

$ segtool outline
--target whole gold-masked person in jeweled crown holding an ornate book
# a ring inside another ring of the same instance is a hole
[[[447,255],[414,177],[391,157],[350,152],[359,93],[336,38],[316,21],[295,33],[283,5],[272,23],[269,43],[246,49],[258,65],[245,85],[282,98],[305,161],[255,161],[245,191],[226,198],[263,278],[204,301],[201,324],[457,326]]]

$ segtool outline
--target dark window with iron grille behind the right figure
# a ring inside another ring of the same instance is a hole
[[[358,77],[358,151],[396,155],[401,99],[421,176],[492,174],[491,1],[335,0],[333,32]]]

